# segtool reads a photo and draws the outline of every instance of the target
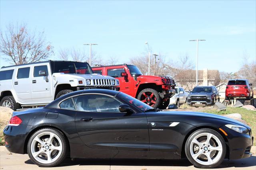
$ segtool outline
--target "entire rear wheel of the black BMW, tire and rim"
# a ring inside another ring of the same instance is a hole
[[[53,167],[60,164],[67,153],[64,134],[54,128],[42,128],[28,140],[28,156],[34,164]]]

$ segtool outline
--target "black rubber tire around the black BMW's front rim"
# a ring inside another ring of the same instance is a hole
[[[194,160],[190,154],[190,143],[192,142],[193,138],[200,134],[200,133],[204,133],[204,132],[207,132],[207,133],[211,133],[211,134],[214,134],[221,142],[222,144],[222,153],[221,153],[221,156],[219,158],[219,160],[217,162],[215,162],[214,164],[211,164],[211,165],[203,165],[203,164],[200,164],[198,162],[196,162],[196,160]],[[219,166],[222,161],[224,160],[225,156],[226,156],[226,143],[223,139],[223,137],[218,133],[216,132],[215,130],[212,130],[212,129],[209,129],[209,128],[202,128],[202,129],[198,129],[196,131],[194,131],[192,134],[190,134],[190,136],[188,137],[187,141],[186,141],[186,144],[185,144],[185,153],[186,153],[186,156],[188,158],[188,160],[197,168],[215,168],[217,166]]]

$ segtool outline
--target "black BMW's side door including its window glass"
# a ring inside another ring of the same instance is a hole
[[[76,105],[76,129],[91,152],[112,150],[149,150],[148,124],[145,113],[121,113],[122,104],[108,95],[86,94],[73,97]]]

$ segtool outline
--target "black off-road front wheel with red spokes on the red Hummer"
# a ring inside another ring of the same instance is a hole
[[[140,91],[137,99],[154,108],[158,108],[161,103],[161,97],[154,89],[144,89]]]

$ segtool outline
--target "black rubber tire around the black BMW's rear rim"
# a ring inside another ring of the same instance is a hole
[[[32,152],[30,150],[30,147],[31,147],[31,144],[32,144],[32,141],[34,139],[34,137],[36,135],[38,135],[39,133],[41,132],[53,132],[55,133],[56,135],[58,135],[58,137],[60,138],[61,142],[62,142],[62,153],[60,154],[60,156],[52,163],[49,163],[49,164],[43,164],[41,162],[38,162],[33,156],[32,156]],[[28,156],[30,158],[30,160],[40,166],[40,167],[54,167],[54,166],[57,166],[59,165],[67,156],[67,152],[68,152],[68,144],[67,144],[67,141],[65,139],[65,136],[62,132],[60,132],[59,130],[56,130],[54,128],[42,128],[42,129],[39,129],[37,130],[36,132],[34,132],[29,140],[28,140],[28,146],[27,146],[27,152],[28,152]]]

